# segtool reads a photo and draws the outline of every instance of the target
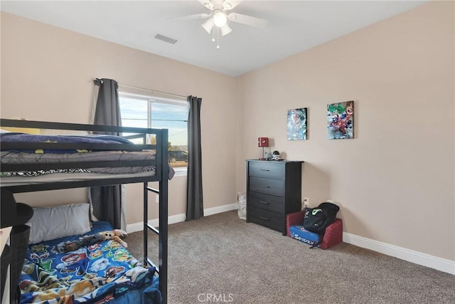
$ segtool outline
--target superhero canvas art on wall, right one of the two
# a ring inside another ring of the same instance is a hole
[[[354,102],[327,105],[327,138],[341,140],[354,138]]]

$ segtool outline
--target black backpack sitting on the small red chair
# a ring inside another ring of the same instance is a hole
[[[323,202],[316,208],[304,209],[304,229],[319,234],[320,241],[314,246],[318,246],[321,243],[326,228],[335,221],[339,210],[340,207],[329,202]]]

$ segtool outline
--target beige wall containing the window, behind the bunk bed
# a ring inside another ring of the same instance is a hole
[[[237,128],[232,122],[238,120],[235,78],[1,13],[1,117],[88,123],[92,78],[202,97],[204,206],[235,201],[235,154],[230,152]],[[142,192],[139,185],[128,187],[127,223],[132,224],[142,221],[137,211]],[[186,177],[174,177],[169,189],[169,215],[184,214]],[[86,200],[83,189],[18,198],[41,205]],[[156,219],[157,206],[151,208],[150,219]]]

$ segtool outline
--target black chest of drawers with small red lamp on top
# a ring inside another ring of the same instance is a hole
[[[301,161],[247,160],[247,222],[282,232],[301,210]]]

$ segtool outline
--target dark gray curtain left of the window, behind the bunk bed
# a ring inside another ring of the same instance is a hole
[[[112,79],[95,79],[95,85],[99,86],[98,98],[95,110],[94,125],[121,126],[119,105],[119,85]],[[102,132],[97,132],[101,134]],[[119,133],[104,132],[103,134],[119,135]],[[109,221],[114,229],[122,227],[122,186],[91,187],[90,200],[92,213],[100,221]]]

